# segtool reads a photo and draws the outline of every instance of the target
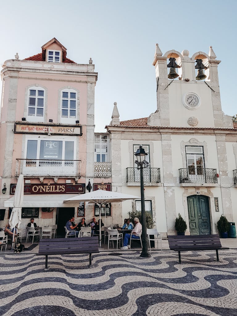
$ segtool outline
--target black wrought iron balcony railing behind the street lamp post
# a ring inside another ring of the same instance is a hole
[[[137,168],[126,168],[127,182],[140,182],[140,170]],[[160,168],[144,168],[143,169],[144,182],[161,182]]]

